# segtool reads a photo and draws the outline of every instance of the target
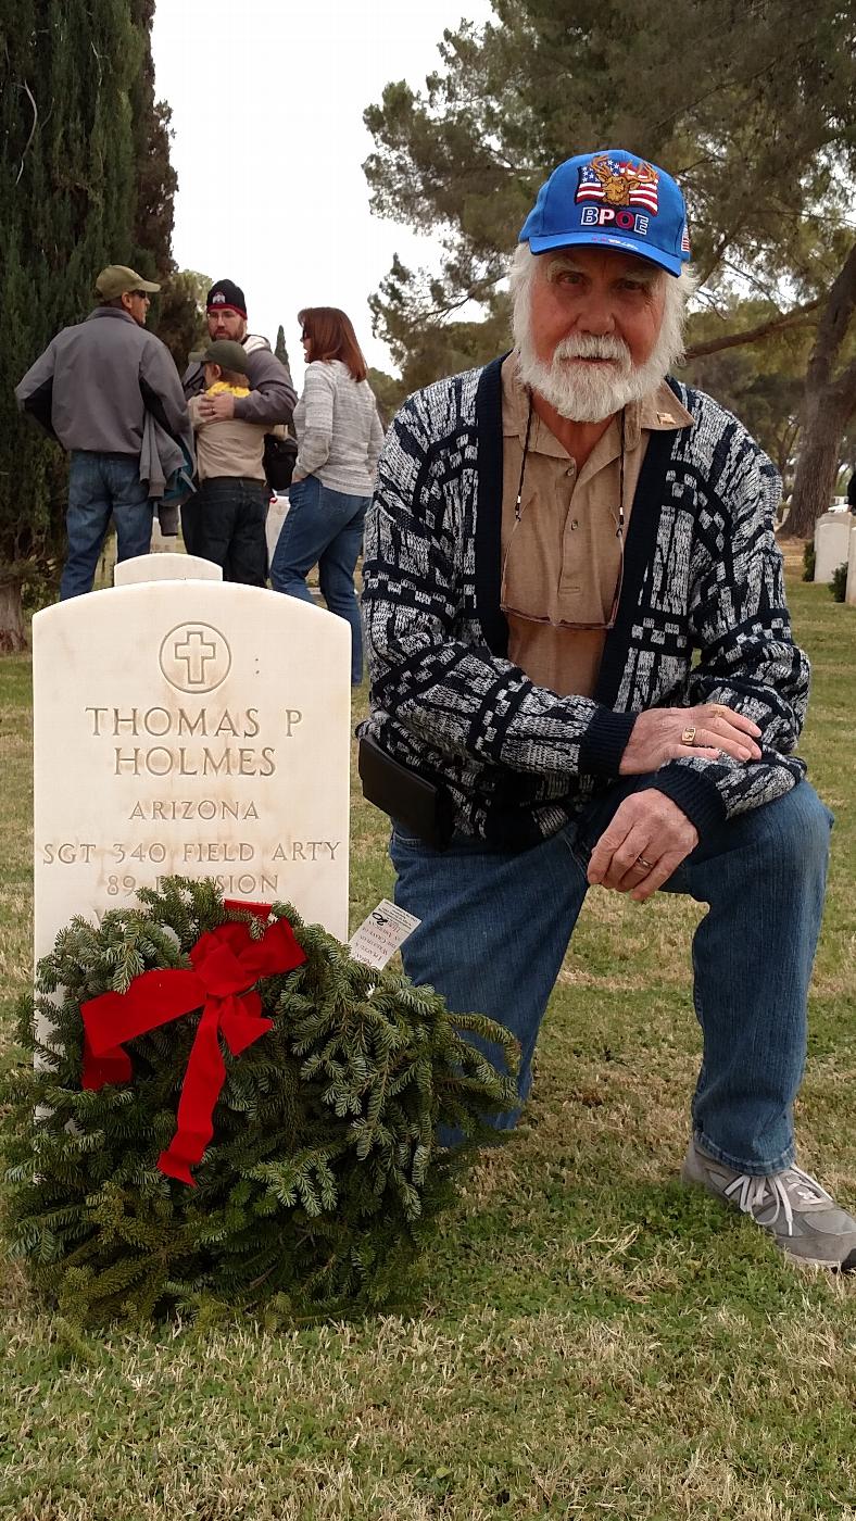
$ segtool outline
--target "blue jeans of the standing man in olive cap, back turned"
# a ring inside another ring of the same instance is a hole
[[[59,583],[62,599],[91,592],[111,514],[116,522],[116,558],[147,555],[154,506],[140,481],[140,456],[75,449],[65,513],[68,554]]]

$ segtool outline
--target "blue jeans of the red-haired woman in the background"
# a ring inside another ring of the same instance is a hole
[[[321,596],[331,613],[351,625],[351,683],[362,681],[362,625],[354,570],[362,551],[362,531],[371,497],[331,491],[318,476],[306,476],[289,490],[289,511],[281,526],[271,586],[286,596],[312,602],[306,578],[318,566]]]

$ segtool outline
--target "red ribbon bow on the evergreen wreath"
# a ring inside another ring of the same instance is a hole
[[[230,903],[269,913],[266,903]],[[202,1161],[213,1133],[214,1104],[227,1069],[220,1031],[233,1056],[246,1051],[274,1028],[262,1018],[262,999],[251,992],[260,976],[290,972],[306,961],[287,919],[268,925],[262,940],[252,940],[245,920],[230,920],[202,935],[190,952],[193,970],[166,967],[135,976],[126,993],[102,993],[81,1005],[84,1016],[84,1088],[129,1083],[131,1057],[123,1040],[146,1034],[202,1007],[202,1018],[187,1062],[178,1104],[178,1129],[158,1167],[167,1177],[195,1188],[190,1168]]]

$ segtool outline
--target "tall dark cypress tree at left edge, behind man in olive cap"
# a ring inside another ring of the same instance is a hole
[[[14,386],[135,259],[172,268],[169,113],[154,103],[154,0],[6,0],[0,20],[0,649],[24,646],[65,548],[65,461]],[[146,272],[143,269],[141,272]]]

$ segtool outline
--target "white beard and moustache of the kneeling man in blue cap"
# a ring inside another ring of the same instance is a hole
[[[672,360],[671,344],[663,332],[643,365],[634,365],[623,339],[610,335],[598,338],[581,333],[576,338],[563,338],[556,344],[552,362],[547,364],[535,354],[526,324],[526,332],[520,333],[518,348],[523,385],[537,391],[560,417],[575,423],[602,423],[629,402],[640,402],[660,385]],[[584,362],[573,364],[573,359],[613,362],[601,370]]]

